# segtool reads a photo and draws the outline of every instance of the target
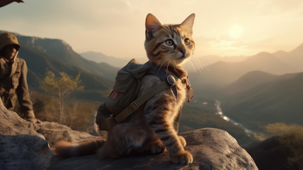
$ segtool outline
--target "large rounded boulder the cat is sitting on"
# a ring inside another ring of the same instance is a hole
[[[180,134],[194,162],[176,165],[166,152],[157,155],[99,159],[97,155],[55,157],[48,170],[258,170],[252,157],[226,131],[203,128]]]

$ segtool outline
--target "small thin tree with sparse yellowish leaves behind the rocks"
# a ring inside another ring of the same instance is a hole
[[[68,74],[61,72],[60,77],[55,76],[52,71],[47,70],[45,73],[44,79],[40,83],[40,88],[49,93],[58,97],[59,104],[59,123],[62,124],[65,122],[64,117],[64,103],[65,99],[73,91],[82,91],[84,86],[80,86],[80,73],[76,76],[75,79],[69,76]]]

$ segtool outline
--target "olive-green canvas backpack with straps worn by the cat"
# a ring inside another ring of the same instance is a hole
[[[157,75],[159,77],[158,81],[162,80],[162,82],[137,98],[140,79],[146,74]],[[98,108],[96,124],[99,125],[99,130],[108,131],[116,124],[123,122],[142,104],[164,89],[172,88],[177,98],[178,93],[175,84],[178,79],[175,75],[167,76],[166,71],[151,62],[140,64],[136,59],[132,59],[118,71],[112,93],[106,102]],[[181,111],[175,124],[176,131],[179,129],[180,117]]]

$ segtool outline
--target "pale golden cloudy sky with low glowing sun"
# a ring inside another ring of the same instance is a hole
[[[145,18],[195,13],[195,56],[251,56],[303,43],[303,0],[24,0],[0,8],[0,30],[61,39],[77,53],[142,58]]]

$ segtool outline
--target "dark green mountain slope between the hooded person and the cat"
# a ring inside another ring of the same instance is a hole
[[[0,31],[2,33],[4,31]],[[12,32],[13,33],[13,32]],[[55,74],[65,72],[76,77],[80,72],[84,91],[77,92],[77,98],[82,100],[102,101],[114,84],[114,78],[119,68],[106,63],[88,61],[73,51],[62,40],[38,37],[17,36],[19,57],[28,65],[28,84],[30,90],[41,91],[39,82],[46,70]]]

